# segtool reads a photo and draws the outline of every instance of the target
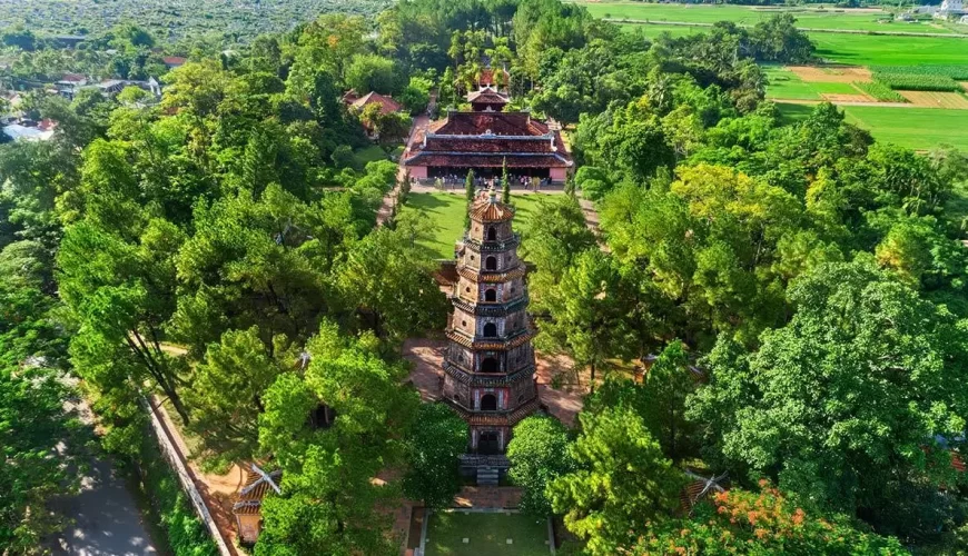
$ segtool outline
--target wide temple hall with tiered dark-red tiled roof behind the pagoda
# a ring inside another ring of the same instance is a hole
[[[418,180],[501,176],[504,163],[515,177],[562,183],[574,161],[561,131],[527,111],[501,111],[508,98],[484,87],[468,95],[472,111],[451,110],[414,133],[403,163]]]

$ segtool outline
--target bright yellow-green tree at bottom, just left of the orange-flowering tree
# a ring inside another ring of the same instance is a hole
[[[577,469],[547,487],[552,508],[587,542],[592,555],[616,554],[679,505],[683,475],[662,455],[630,409],[581,414],[582,434],[569,447]]]

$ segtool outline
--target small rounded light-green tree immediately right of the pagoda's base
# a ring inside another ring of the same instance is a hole
[[[507,444],[507,476],[524,488],[521,509],[536,516],[551,515],[547,485],[575,470],[569,451],[567,429],[553,417],[527,417],[514,426]]]

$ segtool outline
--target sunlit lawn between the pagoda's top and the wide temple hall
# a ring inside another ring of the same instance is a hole
[[[545,195],[511,195],[511,202],[517,210],[514,217],[514,230],[527,234],[527,224],[539,199]],[[464,191],[411,193],[404,210],[423,210],[437,230],[432,241],[422,245],[434,252],[435,257],[450,259],[454,256],[454,241],[464,235],[464,211],[466,201]]]

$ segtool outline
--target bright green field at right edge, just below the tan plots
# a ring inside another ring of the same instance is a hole
[[[778,103],[789,120],[806,118],[812,106]],[[878,141],[897,143],[910,149],[930,150],[947,143],[968,149],[968,110],[940,108],[840,107],[847,121],[869,130]]]

